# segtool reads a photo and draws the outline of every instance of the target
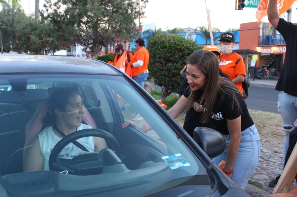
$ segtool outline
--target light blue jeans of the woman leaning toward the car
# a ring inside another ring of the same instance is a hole
[[[225,151],[213,158],[215,164],[221,160],[226,161],[227,149],[230,142],[230,136],[225,135],[227,147]],[[255,125],[241,132],[238,154],[233,165],[232,180],[242,189],[245,188],[249,178],[255,171],[260,157],[261,142],[260,136]]]

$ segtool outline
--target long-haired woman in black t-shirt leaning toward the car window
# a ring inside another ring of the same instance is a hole
[[[196,111],[203,112],[201,123],[211,121],[214,129],[225,135],[227,147],[215,157],[216,164],[226,160],[223,172],[242,189],[257,167],[260,156],[260,137],[249,116],[241,92],[230,80],[219,76],[215,55],[199,50],[189,56],[187,79],[190,92],[168,110],[176,118],[186,107],[198,102]]]

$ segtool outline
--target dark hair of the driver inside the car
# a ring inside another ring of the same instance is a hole
[[[54,124],[56,122],[55,109],[65,112],[65,107],[70,102],[69,97],[75,93],[78,93],[78,91],[72,87],[61,87],[54,91],[48,98],[48,111],[46,116],[43,118],[43,123]]]

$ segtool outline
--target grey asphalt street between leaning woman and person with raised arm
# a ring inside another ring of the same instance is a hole
[[[265,112],[278,113],[278,93],[272,87],[249,86],[249,97],[245,99],[248,109],[257,109]]]

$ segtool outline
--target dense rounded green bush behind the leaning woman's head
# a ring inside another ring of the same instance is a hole
[[[181,84],[179,72],[188,56],[202,47],[180,35],[162,33],[149,39],[147,49],[151,57],[149,73],[162,88],[159,99],[164,101]]]

